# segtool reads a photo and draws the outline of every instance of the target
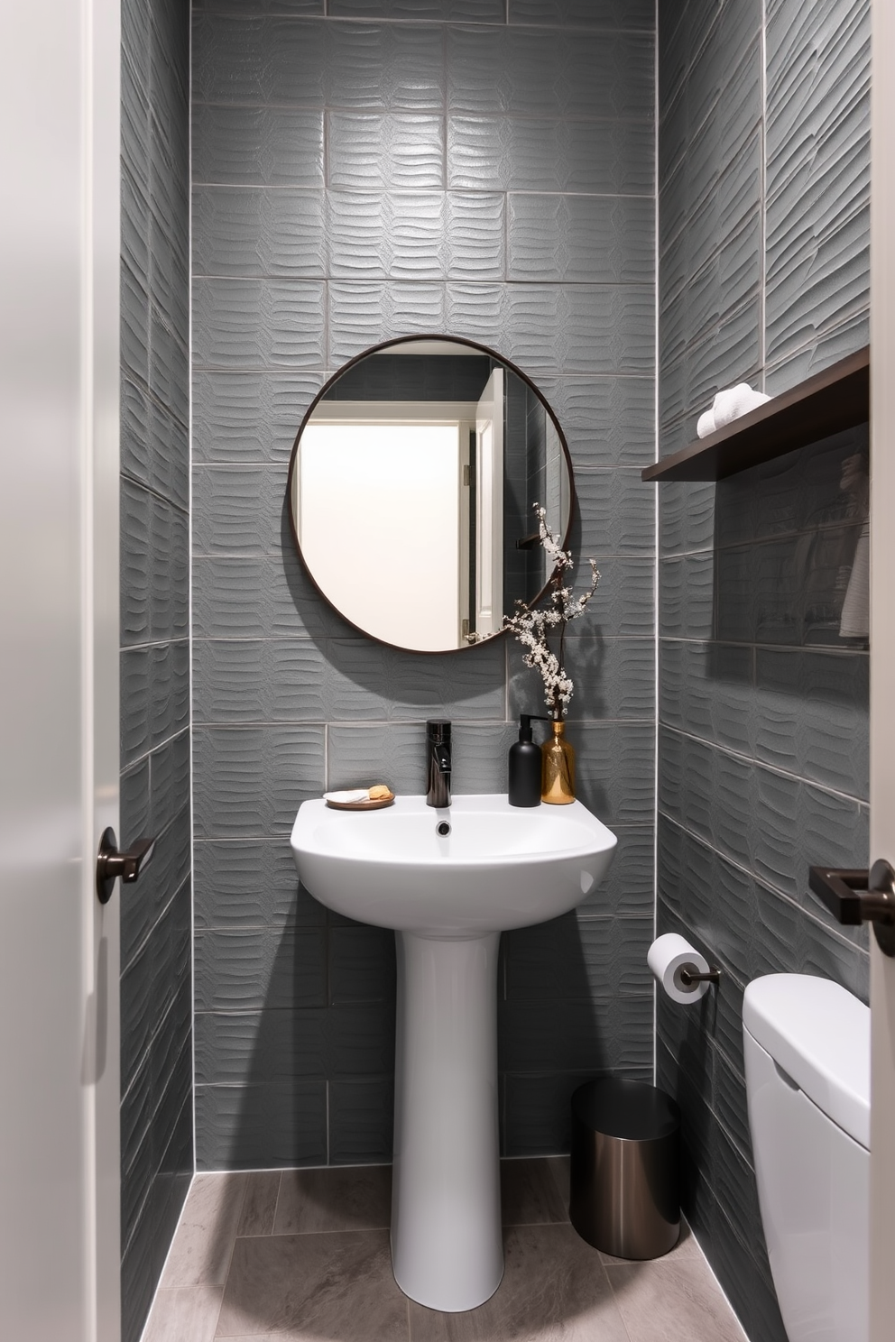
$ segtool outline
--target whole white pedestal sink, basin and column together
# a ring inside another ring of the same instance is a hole
[[[616,837],[580,801],[519,809],[470,796],[436,811],[397,797],[368,812],[306,801],[291,844],[315,899],[396,931],[394,1279],[432,1310],[475,1308],[503,1275],[501,933],[580,903]]]

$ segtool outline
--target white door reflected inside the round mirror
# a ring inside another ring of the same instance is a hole
[[[475,415],[475,632],[503,628],[503,369],[495,368]]]

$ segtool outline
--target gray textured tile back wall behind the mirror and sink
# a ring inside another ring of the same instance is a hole
[[[297,888],[288,831],[326,786],[424,790],[433,714],[455,790],[505,790],[539,699],[503,640],[415,656],[358,636],[294,554],[295,431],[390,336],[466,336],[538,382],[604,572],[570,730],[620,851],[577,915],[505,938],[505,1150],[561,1150],[578,1076],[649,1072],[653,23],[652,0],[193,9],[200,1168],[390,1157],[392,939]]]

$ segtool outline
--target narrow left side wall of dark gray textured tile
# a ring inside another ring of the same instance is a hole
[[[193,1170],[189,832],[189,23],[122,7],[122,1337],[136,1342]]]

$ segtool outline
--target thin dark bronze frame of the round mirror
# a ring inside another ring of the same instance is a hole
[[[305,432],[305,428],[307,427],[307,424],[309,424],[309,421],[310,421],[314,411],[317,409],[318,404],[326,397],[326,393],[329,392],[329,389],[350,368],[354,368],[356,364],[360,364],[362,360],[369,358],[370,354],[378,354],[382,350],[392,349],[394,345],[409,345],[409,344],[415,344],[416,341],[441,341],[441,342],[448,342],[450,341],[451,344],[466,345],[467,349],[478,350],[478,353],[486,354],[488,358],[496,360],[505,368],[509,368],[510,372],[514,373],[515,377],[518,377],[519,381],[522,381],[526,386],[529,386],[534,392],[534,395],[538,397],[538,400],[543,405],[545,411],[547,412],[547,416],[550,417],[550,423],[553,424],[553,428],[556,429],[557,439],[560,442],[560,447],[562,450],[562,455],[564,455],[564,459],[565,459],[566,472],[568,472],[568,476],[569,476],[569,517],[568,517],[568,521],[566,521],[565,533],[564,533],[564,535],[561,538],[562,549],[564,550],[569,549],[569,537],[572,535],[572,527],[573,527],[573,523],[574,523],[574,519],[576,519],[576,514],[577,514],[578,495],[577,495],[577,491],[576,491],[576,487],[574,487],[574,471],[573,471],[573,467],[572,467],[572,454],[569,452],[569,444],[566,442],[565,433],[562,432],[562,427],[560,425],[560,421],[558,421],[558,419],[557,419],[557,416],[556,416],[556,413],[553,411],[553,407],[550,405],[550,403],[547,401],[547,399],[545,397],[543,392],[537,385],[537,382],[534,382],[529,377],[527,373],[523,373],[522,369],[517,364],[513,362],[513,360],[505,358],[503,354],[498,353],[498,350],[495,350],[495,349],[491,349],[490,345],[482,345],[479,341],[468,340],[464,336],[447,336],[447,334],[444,334],[444,331],[437,331],[437,333],[429,333],[429,331],[424,333],[424,331],[420,331],[420,333],[417,333],[415,336],[396,336],[392,340],[380,341],[378,345],[369,345],[366,349],[361,350],[360,354],[354,354],[345,364],[342,364],[342,366],[335,373],[333,373],[333,376],[329,377],[326,380],[326,382],[323,382],[323,385],[321,386],[319,392],[317,393],[317,396],[314,397],[314,400],[311,401],[311,404],[307,407],[307,411],[305,412],[302,423],[298,427],[298,432],[295,435],[295,442],[293,443],[293,450],[290,452],[290,459],[288,459],[288,475],[287,475],[287,479],[286,479],[286,507],[287,507],[287,511],[288,511],[288,527],[290,527],[290,531],[291,531],[291,535],[293,535],[293,545],[295,546],[295,553],[299,557],[299,561],[302,564],[302,568],[303,568],[305,573],[310,578],[311,585],[313,585],[314,590],[318,593],[318,596],[323,601],[326,601],[326,604],[333,611],[335,611],[335,613],[339,616],[339,619],[342,619],[349,625],[349,628],[356,629],[358,633],[362,633],[364,637],[372,639],[374,643],[381,643],[386,648],[396,648],[396,651],[399,651],[399,652],[408,652],[408,654],[415,655],[415,656],[432,656],[432,658],[435,658],[435,656],[452,656],[456,652],[470,652],[474,648],[483,647],[486,643],[492,643],[495,639],[503,637],[507,633],[507,631],[506,629],[496,629],[494,633],[487,635],[484,639],[482,639],[482,640],[479,640],[476,643],[470,643],[466,647],[459,646],[459,647],[455,647],[455,648],[408,648],[408,647],[404,647],[404,644],[389,643],[388,639],[381,639],[381,637],[378,637],[378,635],[370,633],[369,629],[361,628],[360,624],[356,624],[353,620],[350,620],[346,615],[344,615],[339,611],[339,608],[327,597],[326,592],[321,588],[319,582],[317,581],[317,578],[311,573],[311,569],[310,569],[309,564],[305,560],[305,556],[302,553],[302,546],[301,546],[301,542],[298,539],[298,529],[295,526],[295,513],[294,513],[294,509],[293,509],[293,480],[294,480],[294,474],[295,474],[295,463],[298,462],[298,446],[299,446],[299,443],[302,440],[302,433]],[[556,572],[557,570],[554,569],[553,573],[550,574],[550,577],[547,578],[547,581],[543,584],[543,586],[538,592],[538,595],[531,601],[529,601],[529,605],[537,605],[543,599],[545,593],[547,592],[547,589],[550,586],[550,582],[556,577]],[[506,615],[506,612],[505,612],[505,615]]]

